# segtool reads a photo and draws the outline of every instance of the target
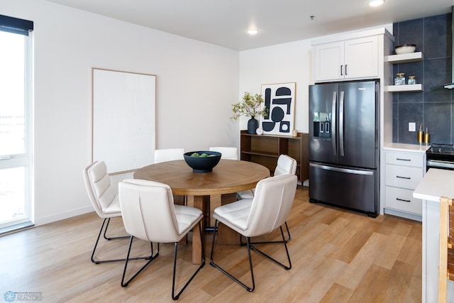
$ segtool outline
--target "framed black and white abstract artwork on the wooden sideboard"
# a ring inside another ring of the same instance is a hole
[[[260,118],[264,134],[292,136],[296,86],[296,82],[262,85],[264,105],[269,110]]]

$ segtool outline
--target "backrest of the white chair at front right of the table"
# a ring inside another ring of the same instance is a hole
[[[285,223],[297,191],[296,175],[279,175],[258,182],[243,236],[274,231]]]

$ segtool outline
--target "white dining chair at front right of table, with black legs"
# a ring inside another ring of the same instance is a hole
[[[255,187],[255,195],[253,199],[242,199],[231,204],[219,206],[214,210],[215,228],[213,242],[211,243],[211,260],[210,265],[244,287],[249,292],[255,289],[255,280],[253,272],[253,263],[250,257],[250,250],[255,250],[265,258],[272,260],[277,265],[280,265],[285,270],[292,268],[287,242],[284,241],[284,225],[292,209],[295,192],[297,191],[297,176],[296,175],[279,175],[260,180]],[[214,263],[214,251],[216,243],[216,233],[219,224],[224,224],[234,231],[240,233],[246,238],[246,246],[248,248],[250,277],[252,286],[249,287],[245,283],[240,282],[236,277],[233,277],[226,270]],[[260,243],[251,243],[250,238],[262,236],[271,233],[279,228],[282,236],[282,243],[287,253],[288,265],[284,265],[270,255],[267,255],[259,250],[255,245]]]

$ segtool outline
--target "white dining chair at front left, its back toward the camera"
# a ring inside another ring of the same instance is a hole
[[[126,256],[121,286],[127,287],[159,255],[159,243],[174,243],[172,299],[179,299],[180,294],[186,289],[197,272],[205,265],[204,249],[202,246],[201,265],[195,270],[186,284],[175,294],[175,276],[177,275],[178,242],[198,225],[201,233],[201,219],[204,215],[200,209],[190,206],[175,205],[173,203],[172,189],[167,184],[147,180],[123,180],[118,184],[121,213],[126,232],[131,234],[128,253]],[[133,239],[157,244],[157,252],[142,268],[140,268],[128,281],[125,282],[126,269]],[[184,265],[183,266],[189,266]]]

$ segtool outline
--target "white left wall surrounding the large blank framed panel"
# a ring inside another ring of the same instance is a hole
[[[157,75],[156,148],[236,145],[238,52],[44,0],[0,0],[34,21],[35,224],[92,211],[92,67]]]

